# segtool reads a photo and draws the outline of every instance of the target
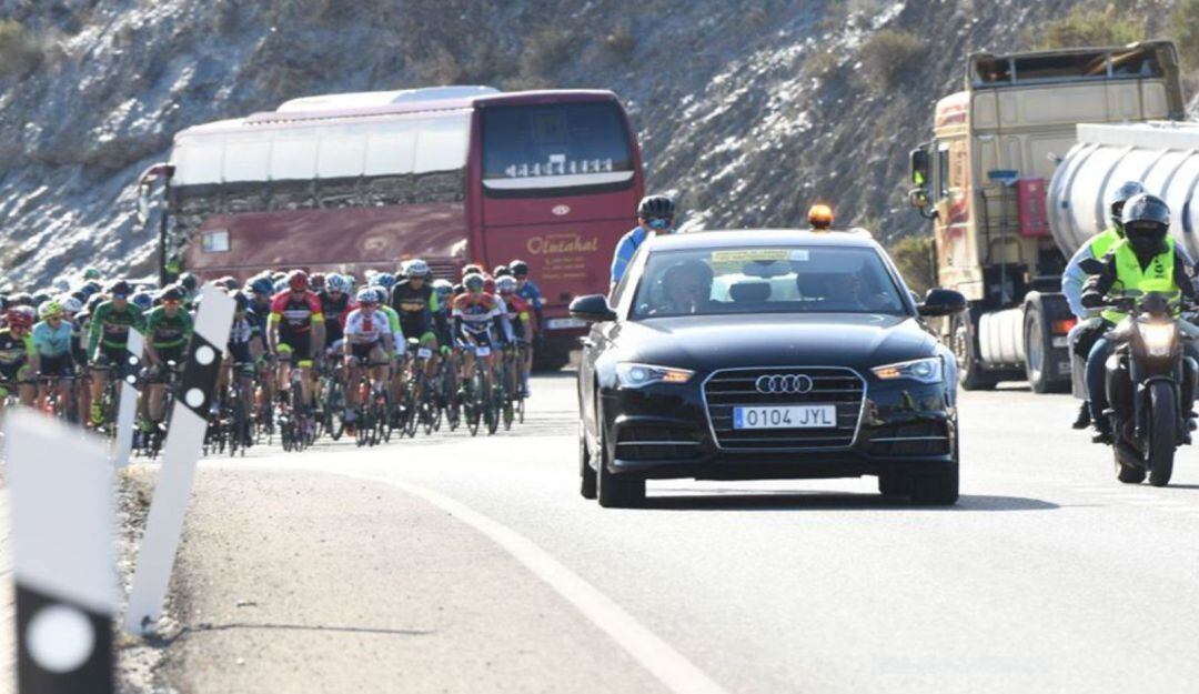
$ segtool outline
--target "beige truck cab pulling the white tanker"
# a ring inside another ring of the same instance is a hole
[[[965,390],[1005,380],[1028,380],[1038,393],[1068,390],[1074,318],[1061,294],[1062,270],[1107,227],[1107,193],[1144,180],[1152,158],[1128,159],[1132,144],[1083,150],[1078,126],[1181,120],[1183,109],[1169,41],[970,55],[965,90],[936,103],[933,139],[911,151],[909,193],[933,222],[938,284],[969,301],[969,310],[940,328]],[[1105,133],[1108,141],[1110,131],[1084,128],[1084,135]],[[1077,158],[1098,150],[1104,153],[1090,163]],[[1073,175],[1054,179],[1067,159],[1077,162]],[[1125,159],[1143,165],[1115,165]]]

